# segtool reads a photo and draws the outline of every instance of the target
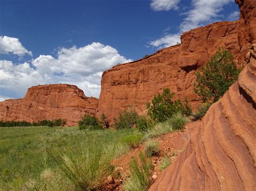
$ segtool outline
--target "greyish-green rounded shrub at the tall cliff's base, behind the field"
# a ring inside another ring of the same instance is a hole
[[[123,110],[118,118],[114,118],[114,124],[113,126],[116,129],[131,129],[133,126],[137,124],[138,121],[138,113],[136,110],[132,107],[129,107],[125,110]]]

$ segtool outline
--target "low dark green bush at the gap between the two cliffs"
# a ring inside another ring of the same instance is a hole
[[[103,126],[99,123],[96,117],[90,115],[84,115],[81,121],[78,121],[79,129],[99,130],[103,129]]]

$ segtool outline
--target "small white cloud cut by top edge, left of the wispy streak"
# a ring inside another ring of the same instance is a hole
[[[177,10],[179,2],[180,0],[152,0],[150,6],[154,11]]]

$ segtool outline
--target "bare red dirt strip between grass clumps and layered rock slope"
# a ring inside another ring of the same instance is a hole
[[[159,156],[153,156],[152,159],[152,165],[154,167],[151,174],[156,173],[157,176],[161,174],[161,171],[159,169],[159,164],[161,162],[161,159],[167,155],[170,157],[172,161],[176,159],[176,157],[184,151],[184,148],[186,146],[186,143],[190,139],[191,135],[193,134],[193,131],[198,128],[198,125],[200,122],[192,122],[185,125],[185,129],[182,131],[175,131],[171,133],[167,133],[163,136],[160,136],[158,138],[150,139],[150,141],[154,140],[159,143],[160,148],[160,154]],[[116,172],[119,172],[122,174],[122,177],[113,176],[114,181],[112,183],[106,183],[104,186],[104,189],[106,190],[122,190],[123,184],[125,178],[129,177],[129,163],[132,159],[132,157],[136,157],[140,164],[139,160],[139,152],[145,152],[145,143],[140,144],[138,148],[134,148],[127,154],[123,155],[122,157],[115,159],[112,164],[116,166]],[[151,183],[153,183],[154,180],[151,179]]]

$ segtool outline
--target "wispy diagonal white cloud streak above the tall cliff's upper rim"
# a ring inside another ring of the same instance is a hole
[[[186,17],[180,23],[179,31],[153,40],[150,45],[158,48],[175,45],[177,37],[180,37],[185,31],[218,21],[221,18],[219,13],[223,10],[223,7],[231,2],[233,0],[192,0],[192,9],[184,13]],[[180,39],[178,42],[180,42]]]

